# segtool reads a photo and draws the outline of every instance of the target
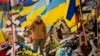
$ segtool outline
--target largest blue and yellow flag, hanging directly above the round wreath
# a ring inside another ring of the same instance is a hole
[[[58,19],[66,21],[68,27],[75,25],[75,14],[71,20],[66,19],[71,0],[52,0],[48,7],[41,13],[46,25],[52,25]]]

